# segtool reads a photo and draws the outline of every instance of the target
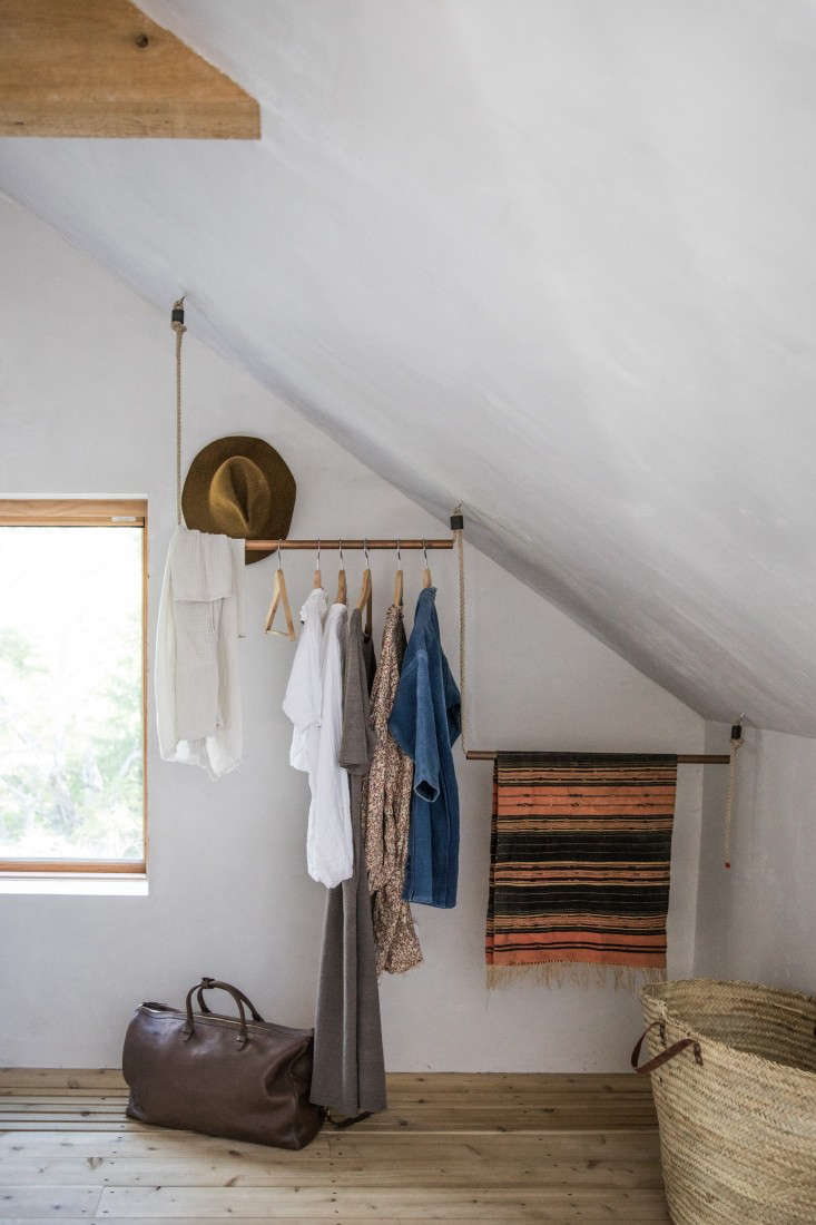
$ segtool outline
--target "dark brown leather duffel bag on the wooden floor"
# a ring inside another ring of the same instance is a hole
[[[207,1008],[203,992],[214,989],[229,992],[238,1018]],[[266,1022],[238,987],[205,978],[187,991],[184,1012],[164,1003],[136,1009],[123,1050],[127,1115],[159,1127],[303,1148],[322,1122],[320,1106],[309,1101],[312,1045],[311,1029]]]

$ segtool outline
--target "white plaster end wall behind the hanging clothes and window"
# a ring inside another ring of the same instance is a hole
[[[168,314],[1,198],[0,266],[0,496],[146,495],[152,626],[174,522]],[[195,301],[189,323],[185,463],[219,435],[260,434],[298,480],[293,535],[446,530],[197,343]],[[451,502],[456,495],[451,489]],[[453,555],[433,562],[455,665]],[[305,554],[287,556],[295,600],[309,588],[311,566]],[[392,566],[387,556],[374,561],[379,614]],[[293,648],[265,639],[260,628],[271,567],[249,571],[255,611],[241,647],[243,768],[212,784],[161,762],[151,722],[149,895],[0,897],[0,1062],[116,1065],[134,1005],[179,1001],[202,973],[240,984],[278,1020],[310,1023],[325,897],[305,872],[305,779],[287,761],[281,698]],[[419,567],[418,555],[406,559],[408,605]],[[350,559],[352,587],[359,568]],[[331,557],[323,570],[331,572]],[[474,550],[468,583],[474,745],[700,751],[696,714]],[[532,985],[486,992],[490,766],[466,764],[457,752],[457,771],[459,904],[446,913],[417,909],[425,964],[382,984],[388,1067],[622,1068],[640,1024],[633,996]],[[700,811],[700,772],[682,768],[670,918],[678,974],[692,963]]]

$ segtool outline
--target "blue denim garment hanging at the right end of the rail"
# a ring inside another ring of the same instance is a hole
[[[407,902],[455,907],[459,793],[451,746],[461,731],[459,690],[440,641],[436,588],[420,592],[388,730],[414,762]]]

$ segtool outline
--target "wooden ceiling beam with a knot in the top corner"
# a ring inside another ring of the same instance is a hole
[[[0,136],[260,135],[255,98],[127,0],[0,0]]]

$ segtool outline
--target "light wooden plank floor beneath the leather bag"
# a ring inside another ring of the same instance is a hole
[[[648,1080],[396,1074],[300,1153],[125,1118],[118,1071],[0,1069],[0,1221],[669,1220]]]

